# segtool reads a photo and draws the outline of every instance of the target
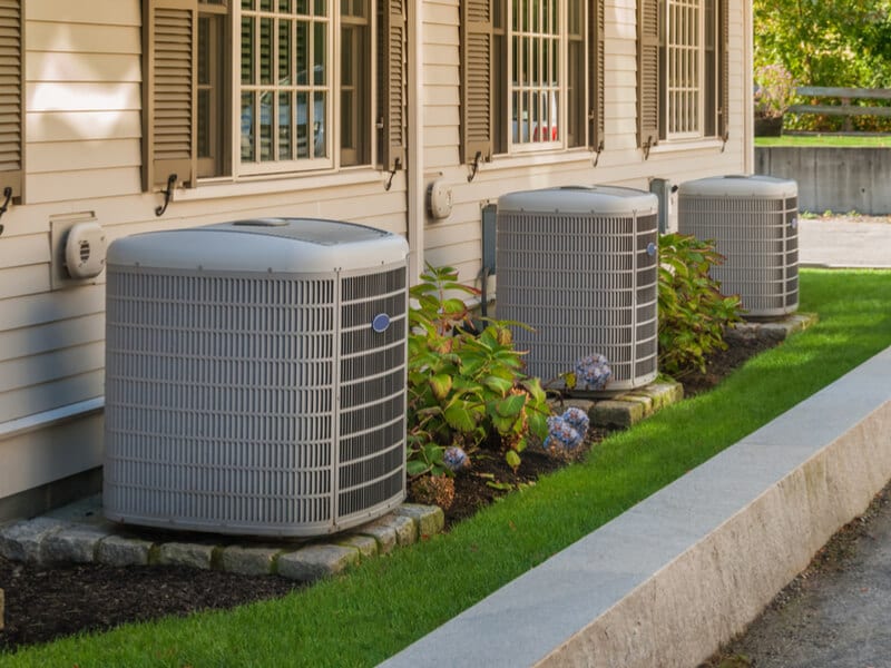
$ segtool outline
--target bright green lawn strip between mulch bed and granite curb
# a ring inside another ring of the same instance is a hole
[[[803,271],[801,288],[817,325],[448,536],[282,600],[65,639],[0,665],[373,666],[891,345],[891,272]]]

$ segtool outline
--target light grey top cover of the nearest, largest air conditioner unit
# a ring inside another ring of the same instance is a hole
[[[237,235],[237,238],[234,238]],[[281,244],[271,244],[271,237]],[[151,232],[118,239],[108,264],[158,269],[311,274],[402,262],[405,239],[364,225],[310,218],[256,218]]]

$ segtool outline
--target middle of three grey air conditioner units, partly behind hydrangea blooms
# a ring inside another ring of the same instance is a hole
[[[608,391],[657,375],[658,202],[609,186],[549,188],[498,200],[499,320],[528,351],[527,371],[555,387],[600,354]]]

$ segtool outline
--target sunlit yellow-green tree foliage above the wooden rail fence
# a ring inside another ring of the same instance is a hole
[[[755,67],[802,86],[891,88],[891,0],[754,0]]]

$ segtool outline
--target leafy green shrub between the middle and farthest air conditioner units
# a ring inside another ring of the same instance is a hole
[[[708,269],[724,261],[712,242],[679,234],[659,239],[659,366],[670,375],[705,372],[706,357],[726,350],[724,330],[740,322],[738,295],[721,294]]]

